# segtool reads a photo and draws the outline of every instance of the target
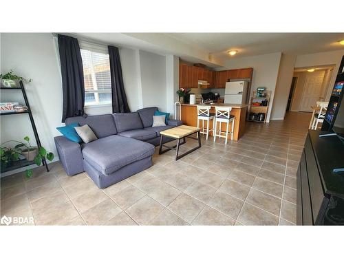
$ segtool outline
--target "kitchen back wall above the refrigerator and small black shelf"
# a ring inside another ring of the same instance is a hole
[[[257,87],[266,87],[267,90],[272,91],[268,116],[266,117],[267,122],[270,120],[271,109],[274,103],[280,61],[281,52],[278,52],[260,56],[233,58],[226,61],[224,65],[226,67],[225,69],[253,68],[251,94],[254,89],[257,89]]]

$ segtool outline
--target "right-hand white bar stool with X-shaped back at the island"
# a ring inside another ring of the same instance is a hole
[[[227,136],[228,133],[232,135],[231,139],[233,140],[233,132],[234,132],[234,120],[235,116],[230,114],[230,111],[232,110],[232,107],[215,107],[215,131],[214,131],[214,142],[216,140],[216,136],[219,138],[226,138],[226,144],[227,144]],[[219,134],[217,134],[217,122],[219,122]],[[226,122],[226,132],[221,131],[221,125],[222,122]],[[229,123],[232,122],[232,131],[228,132]],[[222,133],[225,133],[226,135],[222,135]]]

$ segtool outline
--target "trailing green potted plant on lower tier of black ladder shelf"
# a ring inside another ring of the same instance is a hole
[[[8,142],[17,142],[17,145],[12,149],[12,156],[14,158],[17,158],[16,160],[19,159],[19,154],[23,155],[28,161],[34,161],[37,166],[41,166],[42,164],[42,159],[46,158],[49,161],[52,161],[54,159],[54,153],[52,152],[47,152],[47,150],[44,147],[36,147],[32,146],[30,144],[30,138],[28,136],[24,137],[25,142],[19,142],[17,140],[8,140],[5,143]],[[1,162],[2,160],[8,160],[6,158],[6,155],[9,155],[8,150],[9,147],[1,147]],[[7,151],[7,152],[6,152]],[[32,176],[32,169],[29,166],[29,169],[26,169],[26,177],[31,178]]]

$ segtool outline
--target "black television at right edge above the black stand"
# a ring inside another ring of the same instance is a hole
[[[323,126],[321,127],[321,137],[338,136],[344,140],[344,56],[336,76],[336,82],[332,89],[332,94],[327,106]]]

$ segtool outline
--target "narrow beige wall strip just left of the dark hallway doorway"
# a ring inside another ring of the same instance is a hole
[[[275,90],[275,100],[272,105],[271,120],[283,120],[286,115],[288,96],[296,58],[296,56],[286,54],[282,54],[281,56],[279,76]]]

